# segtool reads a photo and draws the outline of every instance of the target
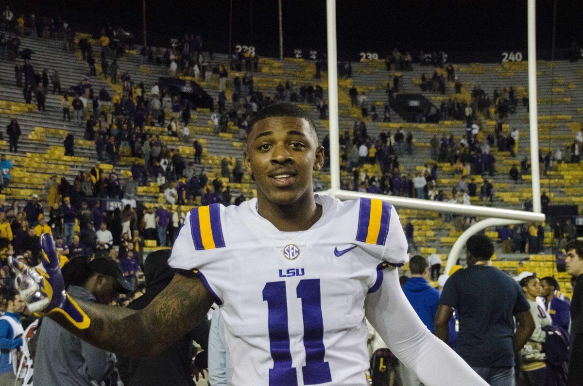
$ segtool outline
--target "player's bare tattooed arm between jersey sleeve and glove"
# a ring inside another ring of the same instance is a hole
[[[74,329],[59,315],[51,318],[94,346],[120,355],[145,357],[160,353],[196,327],[213,297],[196,276],[179,272],[140,311],[76,301],[91,319],[89,328]]]

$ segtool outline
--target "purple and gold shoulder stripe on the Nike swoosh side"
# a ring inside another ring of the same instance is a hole
[[[380,199],[361,198],[356,241],[385,245],[390,220],[390,203]]]

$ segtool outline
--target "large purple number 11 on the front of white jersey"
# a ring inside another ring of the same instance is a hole
[[[296,287],[304,319],[305,366],[301,368],[305,385],[332,381],[330,366],[324,362],[324,323],[320,303],[320,279],[302,279]],[[269,282],[263,289],[269,312],[269,348],[273,369],[269,385],[297,385],[296,367],[291,366],[290,336],[287,322],[286,282]]]

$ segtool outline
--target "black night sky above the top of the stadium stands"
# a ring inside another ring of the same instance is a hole
[[[99,35],[111,23],[135,33],[142,42],[141,0],[6,1],[15,13],[63,15],[79,31]],[[171,37],[201,33],[217,52],[228,51],[229,0],[146,0],[148,43],[167,46]],[[359,52],[398,47],[416,57],[419,50],[445,50],[452,61],[495,57],[522,51],[526,59],[526,0],[338,0],[339,59],[359,59]],[[537,1],[539,58],[550,58],[553,0]],[[583,31],[583,1],[557,0],[556,57]],[[283,0],[286,56],[294,48],[325,52],[324,0]],[[278,57],[278,1],[233,0],[233,45],[254,45],[259,55]]]

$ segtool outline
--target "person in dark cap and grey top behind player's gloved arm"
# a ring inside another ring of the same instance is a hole
[[[131,288],[119,266],[111,259],[71,259],[62,268],[67,292],[77,299],[108,304],[118,293]],[[129,332],[128,332],[129,333]],[[38,327],[33,383],[38,385],[97,385],[114,370],[113,353],[96,348],[42,318]]]

